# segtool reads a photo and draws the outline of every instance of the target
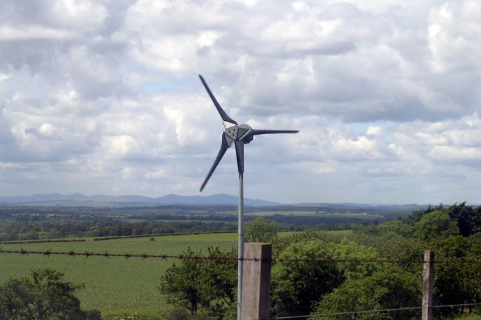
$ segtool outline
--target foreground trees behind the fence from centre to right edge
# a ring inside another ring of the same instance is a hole
[[[258,224],[252,228],[252,224]],[[249,233],[272,235],[271,222],[251,221]],[[259,227],[261,225],[261,227]],[[263,230],[263,231],[259,231]],[[481,208],[465,203],[450,207],[428,207],[407,217],[376,226],[358,226],[350,236],[322,232],[295,233],[273,237],[271,269],[271,317],[332,314],[363,310],[400,309],[421,306],[422,264],[351,262],[295,262],[320,260],[422,261],[425,250],[436,251],[438,260],[481,259]],[[265,239],[261,239],[265,240]],[[201,255],[188,249],[185,255]],[[213,257],[236,257],[236,250]],[[226,260],[183,260],[161,276],[159,289],[168,301],[185,308],[196,319],[233,319],[236,310],[236,262]],[[480,314],[481,264],[438,264],[434,305],[444,319],[465,312]],[[214,281],[214,279],[216,281]],[[462,306],[465,305],[465,306]],[[175,309],[175,312],[179,312]],[[368,314],[313,317],[313,319],[419,319],[418,309]]]

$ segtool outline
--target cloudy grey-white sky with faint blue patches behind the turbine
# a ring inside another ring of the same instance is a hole
[[[481,203],[477,0],[0,1],[0,196]]]

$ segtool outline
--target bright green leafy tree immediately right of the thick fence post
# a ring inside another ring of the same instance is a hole
[[[278,262],[272,268],[271,304],[273,314],[282,317],[309,315],[313,304],[346,278],[359,279],[375,271],[374,264],[315,260],[365,260],[378,258],[378,255],[371,248],[347,240],[339,243],[313,240],[291,244],[279,258],[287,261]]]

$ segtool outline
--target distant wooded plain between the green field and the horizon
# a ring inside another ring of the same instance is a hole
[[[279,231],[341,230],[375,224],[403,212],[324,206],[246,207],[245,221],[260,216]],[[0,242],[60,238],[153,236],[237,231],[237,209],[228,205],[135,207],[0,206]]]

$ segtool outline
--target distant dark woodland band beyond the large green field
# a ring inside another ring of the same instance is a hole
[[[60,238],[147,236],[172,233],[234,232],[237,216],[196,216],[192,214],[141,214],[128,219],[98,215],[5,214],[0,218],[0,242]],[[245,221],[256,216],[245,216]],[[273,214],[265,217],[277,222],[279,231],[346,230],[356,225],[375,225],[377,220],[361,217],[333,218]],[[328,222],[331,223],[328,223]]]

